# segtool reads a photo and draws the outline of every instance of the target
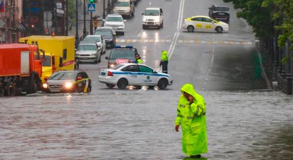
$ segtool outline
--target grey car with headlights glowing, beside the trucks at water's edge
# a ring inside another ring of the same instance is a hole
[[[90,92],[91,81],[82,70],[58,71],[42,84],[44,92]]]

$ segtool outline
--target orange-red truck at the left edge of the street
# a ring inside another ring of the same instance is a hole
[[[0,96],[35,93],[41,86],[42,60],[36,45],[0,45]]]

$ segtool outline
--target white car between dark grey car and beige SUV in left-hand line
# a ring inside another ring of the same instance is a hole
[[[106,19],[103,19],[104,27],[112,27],[113,30],[118,34],[124,35],[124,28],[126,20],[123,20],[120,14],[108,14]]]

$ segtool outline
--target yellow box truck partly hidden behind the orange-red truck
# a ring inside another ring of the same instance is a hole
[[[78,69],[74,36],[32,35],[20,38],[20,43],[36,44],[45,51],[42,83],[56,71]]]

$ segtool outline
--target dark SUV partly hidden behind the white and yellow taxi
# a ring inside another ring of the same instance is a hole
[[[226,5],[213,5],[209,8],[209,17],[229,24],[229,8]]]

